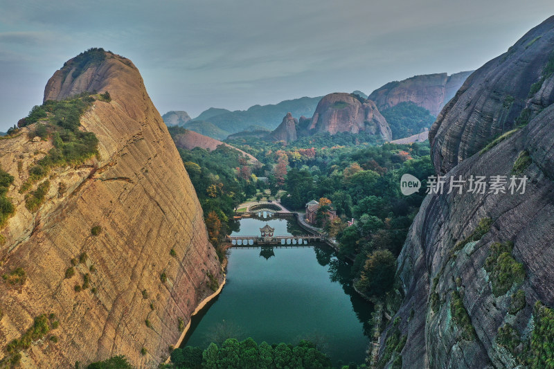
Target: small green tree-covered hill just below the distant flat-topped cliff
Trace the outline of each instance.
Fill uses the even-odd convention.
[[[380,111],[393,132],[393,140],[418,134],[429,129],[436,117],[429,110],[418,107],[413,102],[400,102],[394,107]]]

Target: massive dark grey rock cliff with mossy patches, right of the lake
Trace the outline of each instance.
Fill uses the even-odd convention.
[[[528,98],[533,78],[539,79],[551,55],[553,37],[551,17],[510,48],[506,60],[494,59],[476,71],[437,120],[434,128],[439,134],[432,141],[432,152],[437,172],[449,170],[447,183],[450,177],[469,179],[471,175],[507,176],[509,182],[522,152],[528,152],[530,161],[518,177],[526,175],[529,180],[523,195],[512,195],[509,190],[479,195],[468,193],[467,188],[462,194],[427,195],[398,258],[404,300],[393,320],[400,318],[398,328],[407,336],[401,353],[403,368],[515,368],[517,360],[497,341],[499,327],[509,323],[526,339],[533,329],[535,302],[554,305],[554,78],[546,78]],[[497,122],[508,93],[515,101],[504,112],[509,116],[502,118],[504,126],[512,126],[517,117],[511,109],[527,106],[542,111],[530,113],[528,125],[482,154],[456,151],[479,137],[474,132],[496,132],[503,127]],[[458,142],[451,138],[454,134]],[[472,151],[484,144],[478,139]],[[451,155],[451,150],[457,154]],[[456,249],[485,218],[491,219],[490,231]],[[494,277],[485,270],[485,260],[492,254],[493,242],[508,241],[514,243],[512,257],[523,265],[526,276],[521,285],[494,294]],[[510,310],[518,290],[524,291],[524,307]],[[467,339],[452,313],[455,293],[474,329],[472,339]],[[387,327],[382,343],[393,330],[392,325]]]

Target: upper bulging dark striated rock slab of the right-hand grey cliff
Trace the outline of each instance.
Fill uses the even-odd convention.
[[[530,87],[541,78],[554,47],[553,22],[530,30],[510,50],[470,78],[445,106],[429,132],[440,173],[481,150],[491,138],[514,128]],[[544,87],[544,98],[552,87]],[[540,97],[538,97],[540,99]]]

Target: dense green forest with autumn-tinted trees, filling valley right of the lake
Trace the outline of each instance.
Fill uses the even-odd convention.
[[[306,145],[298,141],[287,146],[259,140],[233,143],[263,163],[253,173],[268,178],[269,190],[287,208],[303,210],[312,199],[330,201],[339,219],[325,222],[323,216],[319,224],[337,238],[340,254],[355,260],[357,289],[383,296],[393,287],[396,257],[425,195],[424,190],[402,195],[400,177],[410,173],[424,180],[434,173],[429,144],[337,145],[345,136],[356,135],[322,136],[310,148],[301,148]],[[352,218],[355,224],[347,227]]]

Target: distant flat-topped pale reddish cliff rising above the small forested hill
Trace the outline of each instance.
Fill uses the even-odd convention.
[[[368,97],[377,107],[384,110],[411,101],[436,116],[440,109],[452,99],[472,71],[415,75],[402,81],[389,82],[373,91]]]

